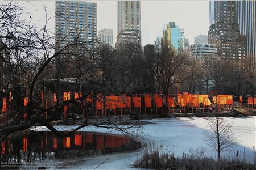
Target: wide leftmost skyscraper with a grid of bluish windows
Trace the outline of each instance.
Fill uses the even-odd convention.
[[[90,41],[97,34],[97,4],[85,1],[56,1],[56,50],[79,37]],[[93,48],[93,44],[88,44]]]

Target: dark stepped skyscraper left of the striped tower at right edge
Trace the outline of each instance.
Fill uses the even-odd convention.
[[[210,1],[208,37],[222,58],[241,60],[246,57],[246,36],[240,34],[237,24],[236,1]]]

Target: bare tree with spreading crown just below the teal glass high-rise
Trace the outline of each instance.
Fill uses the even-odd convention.
[[[168,103],[169,90],[175,84],[183,83],[191,77],[189,55],[185,52],[177,53],[174,48],[162,43],[155,43],[154,62],[142,61],[142,67],[150,71],[158,84],[158,91],[163,91],[165,103]],[[166,105],[167,108],[167,105]]]

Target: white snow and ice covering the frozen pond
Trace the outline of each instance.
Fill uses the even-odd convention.
[[[240,158],[245,155],[247,159],[253,159],[253,146],[255,144],[255,123],[256,117],[232,117],[225,118],[233,126],[233,131],[237,135],[238,142],[230,151],[225,151],[222,155],[234,155],[235,152],[241,151]],[[175,152],[176,155],[182,155],[183,152],[188,153],[189,150],[196,150],[204,147],[209,156],[216,156],[212,148],[204,143],[204,130],[207,129],[206,118],[166,118],[148,120],[156,124],[143,125],[144,134],[137,140],[139,142],[154,143],[155,146],[162,145],[163,148]],[[76,128],[76,126],[57,126],[59,130],[67,130]],[[46,130],[43,127],[36,128],[37,130]],[[34,129],[35,130],[35,129]],[[101,133],[121,134],[115,130],[107,130],[104,128],[86,127],[79,131],[97,131]],[[65,162],[58,162],[63,167],[59,169],[129,169],[132,168],[134,160],[142,154],[142,150],[109,154],[102,156],[93,156],[89,158],[76,158]],[[56,160],[55,160],[56,161]],[[52,163],[56,163],[52,161]],[[48,162],[48,167],[56,168],[56,165],[51,165]],[[67,166],[68,165],[68,166]]]

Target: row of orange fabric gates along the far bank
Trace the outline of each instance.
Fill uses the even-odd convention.
[[[74,93],[74,99],[79,99],[79,97],[82,97],[82,94],[75,92]],[[67,101],[71,99],[71,92],[63,92],[63,101]],[[115,95],[110,95],[110,96],[102,96],[101,94],[97,94],[96,96],[96,116],[98,116],[98,111],[102,111],[102,116],[106,116],[106,110],[114,110],[114,114],[116,115],[116,109],[120,109],[121,111],[121,116],[122,116],[122,110],[124,110],[124,113],[126,112],[126,108],[133,109],[135,112],[135,109],[139,109],[139,112],[141,113],[141,108],[142,108],[142,97],[135,95],[132,95],[131,97],[126,96],[125,94],[123,96],[115,96]],[[9,103],[11,103],[12,96],[11,92],[9,94]],[[2,104],[2,121],[6,122],[7,121],[7,99],[6,97],[3,97],[2,99],[3,104]],[[77,100],[79,101],[79,100]],[[242,96],[239,98],[240,103],[242,104]],[[91,103],[93,106],[93,97],[92,95],[89,95],[86,97],[86,100],[84,103],[81,104],[85,105],[85,103]],[[24,107],[26,107],[28,103],[28,97],[24,97]],[[45,106],[45,109],[47,110],[48,108],[48,100],[44,100],[44,94],[43,91],[41,92],[41,103],[42,105]],[[57,96],[55,93],[53,93],[53,103],[57,103]],[[144,111],[145,114],[147,114],[147,109],[150,109],[150,113],[152,114],[152,107],[155,108],[156,114],[158,114],[158,109],[161,109],[161,113],[163,113],[163,103],[164,100],[162,97],[160,97],[159,94],[154,95],[154,104],[152,105],[152,97],[150,97],[149,94],[144,95]],[[218,96],[213,96],[213,103],[214,104],[219,104],[219,105],[233,105],[233,95],[218,95]],[[204,107],[209,107],[212,105],[212,102],[209,100],[208,95],[192,95],[188,94],[187,92],[184,92],[183,94],[178,94],[177,95],[177,104],[175,104],[175,99],[174,97],[168,97],[168,109],[170,113],[170,108],[172,107],[173,113],[174,113],[174,107],[176,105],[180,106],[180,109],[184,108],[185,112],[185,107],[189,106],[192,109],[195,108],[197,112],[197,108],[200,106],[200,104],[203,104]],[[251,108],[254,108],[254,105],[256,104],[256,98],[253,97],[248,97],[248,108],[249,105],[251,105]],[[105,107],[104,107],[105,106]],[[85,109],[83,108],[83,114],[85,116]],[[67,110],[68,110],[68,105],[64,105],[64,118],[67,117]],[[105,112],[104,112],[105,111]],[[105,114],[104,114],[105,113]],[[47,118],[47,112],[46,112],[46,118]],[[24,120],[27,119],[27,114],[24,113]]]

